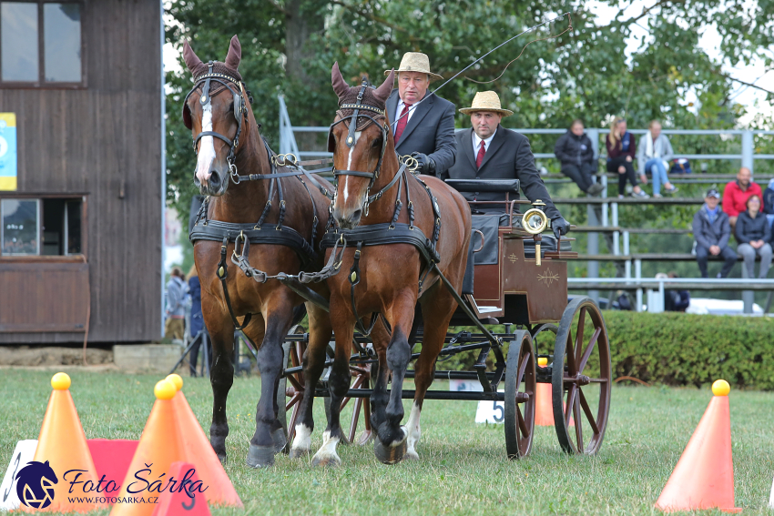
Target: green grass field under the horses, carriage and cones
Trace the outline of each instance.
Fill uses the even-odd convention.
[[[0,370],[4,471],[16,441],[37,438],[52,374]],[[88,438],[139,438],[158,377],[77,370],[70,375]],[[340,448],[343,466],[337,470],[312,469],[308,461],[286,456],[278,456],[270,470],[251,470],[244,460],[259,387],[260,379],[235,379],[229,397],[226,470],[246,511],[213,514],[660,514],[653,502],[711,397],[708,387],[614,387],[610,424],[596,457],[567,456],[552,428],[538,428],[532,455],[507,460],[503,428],[476,425],[475,402],[430,400],[423,410],[419,461],[384,466],[371,447],[348,447]],[[209,382],[186,379],[184,390],[209,429]],[[730,404],[737,506],[744,514],[769,514],[774,393],[731,390]],[[317,408],[315,446],[325,424],[322,404]],[[703,514],[715,512],[720,514]]]

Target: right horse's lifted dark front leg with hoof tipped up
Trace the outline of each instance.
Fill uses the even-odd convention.
[[[387,365],[392,371],[392,390],[387,403],[386,420],[376,429],[377,440],[373,452],[385,464],[402,460],[406,452],[407,431],[401,426],[403,419],[403,379],[412,358],[412,347],[408,335],[412,329],[416,294],[399,295],[387,310],[387,319],[392,325],[392,339],[387,347]]]

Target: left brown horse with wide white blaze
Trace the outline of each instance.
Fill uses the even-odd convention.
[[[202,194],[211,196],[191,234],[201,280],[202,314],[212,339],[210,442],[219,459],[226,460],[226,400],[234,375],[234,330],[236,318],[244,317],[243,331],[260,346],[261,377],[247,462],[251,467],[268,466],[287,442],[278,420],[276,392],[283,369],[282,341],[293,323],[294,309],[303,302],[277,279],[268,277],[321,268],[321,257],[309,251],[318,248],[330,201],[308,184],[309,177],[294,177],[294,168],[273,165],[276,157],[260,136],[246,102],[249,94],[239,76],[241,48],[236,35],[224,63],[202,63],[188,43],[183,55],[196,83],[183,113],[198,154],[194,182]],[[319,177],[315,180],[327,185]],[[229,182],[235,184],[229,187]],[[232,256],[237,238],[239,253]],[[238,260],[242,264],[247,263],[246,258],[250,268],[229,267],[227,256],[242,258]],[[324,285],[314,288],[327,297]],[[307,308],[315,323],[311,341],[319,348],[331,339],[328,314],[311,304]],[[296,319],[302,315],[299,311],[295,310]]]

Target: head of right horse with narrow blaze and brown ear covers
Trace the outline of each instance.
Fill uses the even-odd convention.
[[[331,82],[339,96],[339,110],[331,126],[328,150],[333,152],[334,175],[338,178],[333,199],[333,218],[342,229],[356,227],[363,212],[368,215],[368,195],[382,167],[382,159],[394,154],[392,131],[384,106],[392,92],[394,71],[378,88],[349,86],[333,65]],[[352,107],[362,106],[362,107]],[[357,110],[357,119],[354,112]]]

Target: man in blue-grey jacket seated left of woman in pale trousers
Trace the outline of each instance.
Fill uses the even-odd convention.
[[[723,268],[718,278],[727,278],[734,264],[737,263],[737,253],[728,247],[731,238],[731,227],[728,215],[718,207],[720,194],[715,188],[710,188],[704,197],[704,206],[693,216],[693,238],[696,239],[696,261],[702,278],[709,278],[707,261],[709,256],[722,257]]]

